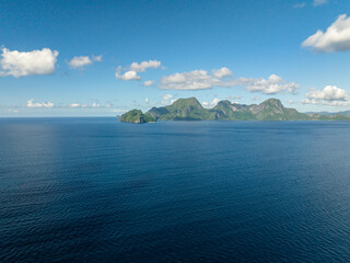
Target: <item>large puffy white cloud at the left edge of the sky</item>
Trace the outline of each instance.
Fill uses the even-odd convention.
[[[57,50],[43,48],[42,50],[18,52],[2,48],[0,57],[0,76],[20,78],[31,75],[51,75],[55,72]]]

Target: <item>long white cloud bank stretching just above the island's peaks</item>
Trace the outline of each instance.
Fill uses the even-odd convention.
[[[218,71],[213,70],[212,73],[218,73]],[[223,77],[228,76],[228,70],[220,69],[219,76]],[[300,85],[294,82],[287,83],[277,75],[271,75],[268,79],[238,78],[222,80],[213,75],[209,75],[206,70],[194,70],[165,76],[161,78],[160,83],[160,88],[163,90],[207,90],[213,87],[245,87],[245,89],[250,92],[260,92],[264,94],[293,93],[300,88]]]

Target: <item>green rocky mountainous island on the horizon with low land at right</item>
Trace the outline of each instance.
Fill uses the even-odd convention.
[[[153,123],[156,121],[350,121],[346,114],[300,113],[284,107],[280,100],[269,99],[260,104],[238,104],[220,101],[212,108],[205,108],[196,98],[178,99],[172,105],[152,107],[147,113],[132,110],[119,117],[119,122]]]

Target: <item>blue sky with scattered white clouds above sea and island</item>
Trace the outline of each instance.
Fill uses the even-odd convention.
[[[196,96],[350,110],[349,0],[0,1],[0,117]]]

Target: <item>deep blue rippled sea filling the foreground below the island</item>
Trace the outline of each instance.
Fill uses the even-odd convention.
[[[349,262],[350,123],[0,119],[0,262]]]

